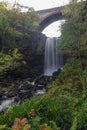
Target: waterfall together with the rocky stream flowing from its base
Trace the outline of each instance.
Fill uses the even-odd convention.
[[[5,111],[10,105],[21,103],[34,95],[42,95],[47,91],[47,84],[60,73],[63,66],[62,51],[58,50],[57,38],[47,38],[45,44],[44,74],[33,81],[25,79],[17,85],[13,84],[11,91],[0,93],[0,112]]]

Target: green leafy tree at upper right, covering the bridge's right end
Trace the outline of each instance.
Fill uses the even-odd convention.
[[[77,0],[74,0],[65,10],[66,22],[62,26],[60,37],[61,47],[64,50],[75,52],[87,49],[87,22],[85,18],[87,13],[84,13],[87,12],[87,8],[84,8],[84,3],[82,1],[78,4]]]

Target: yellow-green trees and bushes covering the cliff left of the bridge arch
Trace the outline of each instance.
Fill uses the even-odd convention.
[[[27,12],[22,8],[0,2],[0,79],[9,77],[11,81],[12,77],[21,77],[23,71],[27,71],[34,50],[31,50],[33,41],[40,35],[38,15],[32,8]]]

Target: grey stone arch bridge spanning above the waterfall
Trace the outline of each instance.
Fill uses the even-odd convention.
[[[64,19],[64,6],[37,11],[39,15],[39,28],[42,31],[52,22]]]

